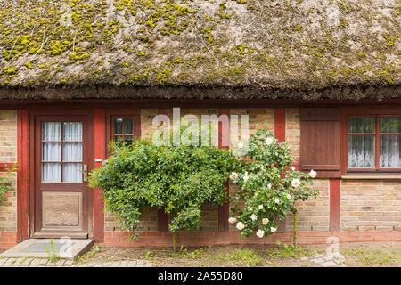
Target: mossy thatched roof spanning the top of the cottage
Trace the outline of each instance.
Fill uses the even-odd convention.
[[[0,98],[398,98],[400,15],[394,0],[3,0]]]

